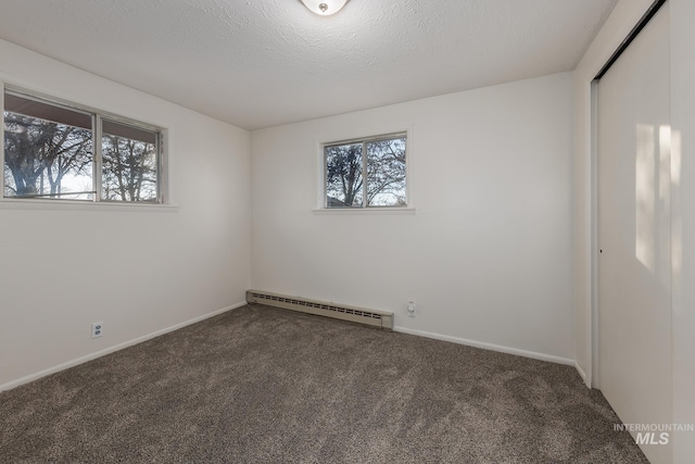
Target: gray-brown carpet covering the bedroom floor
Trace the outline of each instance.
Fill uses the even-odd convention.
[[[573,367],[244,306],[0,393],[2,463],[646,463]]]

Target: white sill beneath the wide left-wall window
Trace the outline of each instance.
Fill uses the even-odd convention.
[[[153,203],[116,203],[108,201],[70,201],[0,199],[0,210],[50,210],[50,211],[123,211],[123,212],[162,212],[176,213],[178,206]]]

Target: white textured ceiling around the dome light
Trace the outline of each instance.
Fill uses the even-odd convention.
[[[572,70],[617,0],[1,0],[0,38],[245,129]]]

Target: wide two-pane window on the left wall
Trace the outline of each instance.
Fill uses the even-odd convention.
[[[161,203],[162,130],[4,90],[3,197]]]

